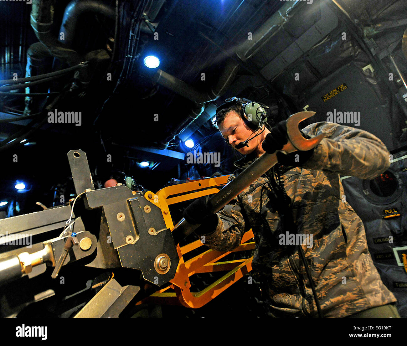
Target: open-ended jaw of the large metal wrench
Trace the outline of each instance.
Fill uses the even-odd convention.
[[[287,136],[293,145],[298,150],[306,151],[316,147],[322,138],[325,138],[325,134],[319,134],[313,138],[304,138],[298,128],[298,125],[305,119],[311,118],[315,112],[303,111],[291,115],[287,119]]]

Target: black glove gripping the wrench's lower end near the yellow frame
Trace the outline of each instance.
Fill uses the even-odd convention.
[[[209,200],[209,196],[203,196],[193,201],[182,212],[182,216],[186,221],[193,225],[197,223],[201,225],[194,231],[198,235],[212,233],[218,225],[218,216],[210,212]]]

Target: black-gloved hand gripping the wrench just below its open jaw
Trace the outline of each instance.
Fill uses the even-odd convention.
[[[309,138],[309,136],[306,136]],[[263,140],[262,147],[266,153],[272,154],[276,153],[278,162],[284,164],[284,166],[301,166],[306,162],[314,153],[314,149],[307,151],[294,151],[293,153],[284,154],[281,151],[282,147],[288,143],[287,137],[287,124],[286,122],[280,121],[275,127],[273,127],[266,138]],[[298,155],[298,156],[297,156]]]

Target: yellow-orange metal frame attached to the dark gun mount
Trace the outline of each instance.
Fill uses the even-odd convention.
[[[166,227],[172,229],[174,223],[168,208],[169,205],[217,193],[219,191],[219,188],[217,187],[226,184],[228,177],[229,175],[223,175],[221,177],[194,180],[185,184],[167,186],[157,193],[147,191],[144,194],[144,197],[161,209]],[[149,196],[152,197],[150,198]],[[200,240],[197,240],[183,247],[177,245],[179,264],[174,278],[170,280],[171,285],[153,293],[151,296],[144,299],[143,302],[153,301],[161,304],[182,304],[185,307],[190,308],[202,307],[252,270],[252,257],[234,261],[218,262],[232,252],[254,249],[254,241],[246,243],[252,238],[253,232],[252,230],[249,230],[249,232],[246,232],[243,235],[241,245],[234,250],[229,252],[206,250],[186,262],[184,262],[182,256],[204,244]],[[228,272],[220,279],[212,282],[212,284],[206,287],[203,291],[190,291],[191,283],[189,278],[192,275],[220,271]],[[170,288],[174,289],[175,292],[166,292]]]

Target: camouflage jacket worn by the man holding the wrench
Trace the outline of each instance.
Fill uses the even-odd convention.
[[[324,317],[342,318],[396,302],[374,267],[363,223],[346,202],[339,179],[339,174],[361,179],[380,175],[390,166],[387,148],[367,131],[335,123],[313,123],[302,132],[324,133],[327,138],[301,167],[287,167],[282,177],[291,198],[289,217],[296,228],[290,233],[304,240],[302,248]],[[242,171],[253,160],[249,154],[235,165]],[[252,228],[256,242],[252,267],[267,284],[271,313],[318,317],[298,250],[284,245],[292,236],[286,234],[276,211],[273,187],[268,184],[274,179],[271,171],[218,212],[217,229],[206,235],[206,244],[218,251],[232,250]],[[312,241],[306,243],[305,238]]]

